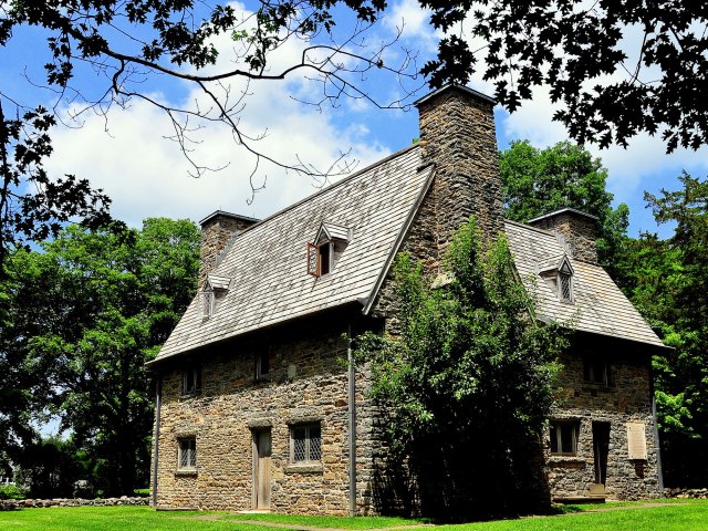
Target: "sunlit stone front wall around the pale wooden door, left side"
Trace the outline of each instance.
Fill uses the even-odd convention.
[[[272,437],[271,510],[348,513],[348,419],[345,320],[300,323],[249,344],[230,343],[201,361],[201,392],[181,395],[181,369],[164,374],[159,429],[158,509],[253,509],[253,431]],[[260,345],[260,346],[258,346]],[[254,378],[256,353],[271,372]],[[194,361],[194,360],[192,360]],[[357,507],[371,492],[371,405],[366,372],[356,375]],[[290,460],[292,424],[320,423],[322,459]],[[178,439],[195,437],[197,470],[177,469]]]

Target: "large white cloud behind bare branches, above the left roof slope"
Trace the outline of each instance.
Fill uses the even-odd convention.
[[[229,65],[229,54],[223,51],[232,44],[228,37],[220,38],[222,53],[217,69]],[[273,71],[299,60],[302,46],[299,41],[287,43],[274,58]],[[232,81],[231,94],[239,95],[246,87],[246,83]],[[388,154],[386,147],[367,142],[364,124],[337,126],[330,111],[319,111],[290,97],[312,95],[308,94],[310,90],[306,80],[296,75],[287,81],[251,83],[238,125],[248,135],[263,138],[249,140],[250,145],[278,162],[296,166],[302,160],[319,170],[327,170],[342,152],[350,149],[346,160],[358,160],[360,168]],[[159,95],[154,97],[160,100]],[[177,103],[198,104],[202,110],[209,105],[199,90]],[[231,132],[219,124],[206,124],[191,135],[199,144],[191,146],[194,152],[189,155],[209,167],[228,166],[195,179],[187,175],[189,164],[178,145],[164,138],[174,135],[174,129],[165,113],[155,106],[135,100],[127,110],[113,108],[107,117],[110,134],[103,131],[102,116],[84,118],[83,127],[53,134],[55,155],[48,168],[88,178],[113,199],[113,215],[133,226],[150,216],[198,220],[216,209],[262,218],[316,191],[317,180],[312,177],[261,159],[253,183],[259,186],[267,179],[266,188],[256,195],[252,205],[247,205],[256,157],[238,146]]]

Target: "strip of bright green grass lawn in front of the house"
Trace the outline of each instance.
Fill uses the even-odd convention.
[[[247,520],[257,520],[263,524],[249,523]],[[69,507],[0,512],[0,530],[18,531],[279,531],[282,528],[268,525],[279,523],[303,528],[364,530],[416,525],[421,522],[373,517],[287,517],[210,511],[156,512],[146,507]],[[708,501],[676,500],[662,507],[647,507],[641,503],[582,506],[579,508],[579,512],[563,516],[435,527],[435,531],[591,530],[708,531]]]

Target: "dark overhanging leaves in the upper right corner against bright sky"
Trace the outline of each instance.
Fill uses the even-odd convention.
[[[667,150],[708,140],[708,10],[701,2],[420,0],[446,35],[423,72],[465,83],[479,64],[509,111],[546,87],[579,144],[626,146],[660,134]],[[471,39],[481,41],[478,49]],[[475,42],[477,44],[477,42]],[[634,46],[634,49],[632,49]],[[627,52],[625,49],[629,48]]]

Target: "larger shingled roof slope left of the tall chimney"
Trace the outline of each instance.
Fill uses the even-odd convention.
[[[430,183],[433,168],[419,165],[410,146],[238,235],[212,271],[231,279],[218,311],[202,319],[197,295],[155,361],[367,298]],[[323,223],[346,228],[348,243],[332,272],[314,278],[306,248]]]

